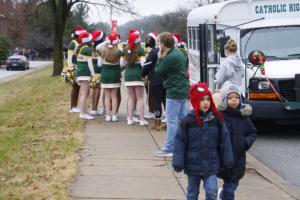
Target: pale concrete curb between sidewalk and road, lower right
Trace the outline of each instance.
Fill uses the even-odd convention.
[[[250,153],[247,153],[247,164],[254,168],[258,175],[278,187],[280,190],[284,191],[292,198],[300,200],[300,192],[295,186],[285,181],[269,167],[254,158]]]

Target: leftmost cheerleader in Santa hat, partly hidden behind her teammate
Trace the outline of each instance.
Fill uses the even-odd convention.
[[[67,65],[69,70],[76,70],[76,65],[77,65],[77,56],[76,56],[76,51],[79,46],[78,44],[78,36],[81,33],[86,32],[86,30],[80,26],[76,27],[75,32],[72,34],[72,41],[69,43],[68,46],[68,56],[67,56]],[[72,89],[71,89],[71,109],[70,113],[79,113],[80,109],[77,108],[78,105],[78,96],[79,96],[79,90],[80,87],[75,81],[72,83]]]

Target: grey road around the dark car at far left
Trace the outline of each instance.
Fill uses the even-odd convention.
[[[30,61],[29,62],[29,71],[34,70],[35,68],[42,67],[47,64],[51,64],[52,61]],[[6,66],[2,65],[0,67],[0,80],[8,77],[12,77],[16,74],[25,73],[28,70],[14,70],[14,71],[7,71]]]

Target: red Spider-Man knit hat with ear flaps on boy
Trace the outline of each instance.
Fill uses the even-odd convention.
[[[219,113],[219,111],[216,108],[216,105],[215,105],[215,103],[212,99],[212,95],[209,91],[209,88],[208,88],[207,84],[204,83],[204,82],[201,82],[201,83],[194,84],[190,87],[190,101],[191,101],[191,104],[193,106],[198,125],[201,126],[201,124],[202,124],[201,118],[199,116],[199,106],[200,106],[199,104],[200,104],[200,101],[202,100],[202,98],[205,95],[209,96],[210,110],[213,113],[215,113],[215,115],[217,115],[217,117],[219,119],[224,121],[224,117],[221,115],[221,113]]]

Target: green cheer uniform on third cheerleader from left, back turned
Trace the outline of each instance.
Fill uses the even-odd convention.
[[[121,57],[121,51],[119,51]],[[119,62],[110,63],[105,59],[102,64],[101,73],[102,88],[119,88],[121,87],[121,68]]]

